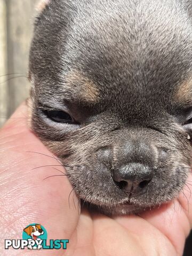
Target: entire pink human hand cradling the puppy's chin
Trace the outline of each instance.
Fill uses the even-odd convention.
[[[27,115],[23,103],[0,131],[0,255],[37,255],[4,249],[4,239],[22,239],[30,223],[43,225],[48,239],[69,239],[67,250],[38,255],[182,255],[192,223],[191,170],[178,198],[139,216],[81,211],[65,169],[28,129]]]

